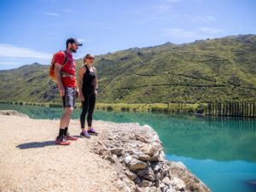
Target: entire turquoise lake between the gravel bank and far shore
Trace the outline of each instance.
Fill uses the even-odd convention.
[[[61,108],[0,104],[33,119],[59,119]],[[80,109],[73,113],[79,119]],[[150,125],[168,160],[182,161],[213,192],[256,191],[256,119],[96,111],[94,119]]]

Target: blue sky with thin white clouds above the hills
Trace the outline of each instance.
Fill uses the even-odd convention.
[[[84,43],[75,58],[166,42],[256,34],[253,0],[1,0],[0,70]]]

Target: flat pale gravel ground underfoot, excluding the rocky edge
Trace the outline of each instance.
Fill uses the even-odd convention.
[[[108,160],[91,152],[97,137],[55,145],[59,120],[0,114],[0,192],[119,191]],[[95,121],[101,133],[104,124]],[[71,120],[79,136],[79,120]]]

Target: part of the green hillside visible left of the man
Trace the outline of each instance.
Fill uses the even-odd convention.
[[[20,68],[0,71],[0,100],[22,102],[49,102],[57,88],[49,79],[49,66],[34,63]]]

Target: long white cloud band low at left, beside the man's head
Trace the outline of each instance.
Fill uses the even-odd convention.
[[[17,47],[12,44],[0,44],[0,57],[49,59],[51,56],[48,53],[38,52],[29,48]]]

